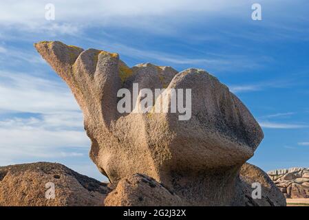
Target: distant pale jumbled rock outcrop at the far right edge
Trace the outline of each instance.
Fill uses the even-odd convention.
[[[309,168],[279,169],[267,174],[287,199],[309,198]]]

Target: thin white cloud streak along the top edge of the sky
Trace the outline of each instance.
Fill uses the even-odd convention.
[[[228,0],[89,0],[85,1],[3,1],[1,3],[0,21],[2,23],[27,23],[45,20],[45,4],[53,3],[56,19],[83,21],[83,19],[96,19],[104,22],[107,18],[118,17],[149,17],[172,16],[181,12],[218,12],[244,5],[241,2],[231,3]],[[91,17],[89,17],[91,15]]]

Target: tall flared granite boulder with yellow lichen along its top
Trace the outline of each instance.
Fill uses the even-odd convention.
[[[240,191],[246,188],[246,180],[239,171],[253,156],[263,133],[244,104],[217,78],[201,69],[178,73],[149,63],[129,68],[118,54],[57,41],[35,47],[72,90],[92,140],[89,155],[112,184],[120,184],[116,190],[135,187],[142,181],[136,176],[140,173],[177,195],[170,198],[177,204],[179,199],[184,205],[197,206],[242,203],[239,187]],[[117,92],[125,88],[133,93],[134,83],[138,91],[151,89],[153,94],[165,88],[153,102],[154,107],[169,110],[172,89],[191,89],[191,118],[179,120],[182,114],[171,111],[120,113]],[[142,105],[142,98],[138,93],[131,103],[134,109]],[[123,179],[131,179],[133,185]],[[276,194],[276,188],[271,188]],[[167,191],[162,193],[169,197]],[[285,205],[280,193],[277,197],[272,203]]]

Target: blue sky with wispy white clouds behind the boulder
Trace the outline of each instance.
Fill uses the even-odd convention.
[[[55,20],[45,19],[54,3]],[[262,5],[262,21],[251,5]],[[206,69],[264,130],[250,162],[309,167],[309,1],[6,1],[0,3],[0,166],[61,162],[104,179],[70,90],[36,53],[37,41]]]

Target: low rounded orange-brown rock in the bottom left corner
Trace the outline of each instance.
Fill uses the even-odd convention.
[[[47,199],[54,183],[55,197]],[[107,184],[56,163],[0,167],[0,206],[103,206]]]

